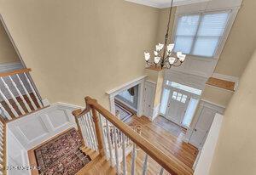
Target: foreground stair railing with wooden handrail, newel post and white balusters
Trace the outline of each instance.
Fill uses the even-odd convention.
[[[86,109],[73,111],[78,124],[79,133],[83,136],[83,144],[100,155],[106,156],[115,167],[117,174],[136,174],[137,148],[145,153],[142,174],[148,172],[148,158],[152,158],[160,165],[159,174],[169,172],[172,175],[192,175],[193,170],[179,161],[174,155],[166,155],[147,139],[143,138],[137,129],[131,128],[118,117],[113,116],[108,110],[98,104],[96,99],[85,98]],[[131,170],[127,170],[127,148],[131,143]],[[129,154],[130,152],[128,152]],[[121,157],[121,161],[119,158]],[[122,166],[121,166],[122,163]],[[156,165],[154,165],[156,166]]]

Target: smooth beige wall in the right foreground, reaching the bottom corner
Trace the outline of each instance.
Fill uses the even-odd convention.
[[[256,174],[255,76],[256,52],[225,112],[211,175]]]

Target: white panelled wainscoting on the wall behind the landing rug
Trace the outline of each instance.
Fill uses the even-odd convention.
[[[31,150],[69,127],[76,127],[72,111],[78,108],[70,104],[53,104],[7,126],[25,150]]]

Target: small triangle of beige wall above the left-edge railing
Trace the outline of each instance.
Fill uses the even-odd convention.
[[[0,64],[20,61],[0,21]]]

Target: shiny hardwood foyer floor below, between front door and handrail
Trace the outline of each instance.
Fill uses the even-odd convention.
[[[188,167],[193,167],[198,150],[191,144],[183,142],[182,138],[172,135],[163,128],[160,122],[149,121],[147,117],[132,116],[127,124],[141,125],[142,136],[166,155],[175,155],[178,160],[183,161]]]

